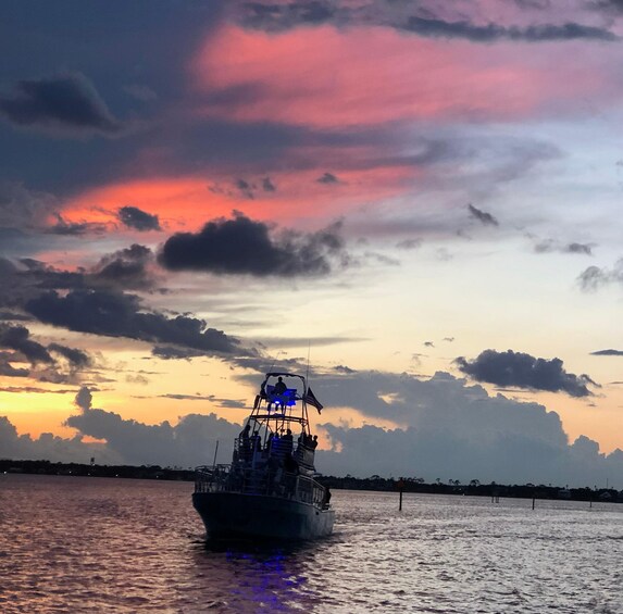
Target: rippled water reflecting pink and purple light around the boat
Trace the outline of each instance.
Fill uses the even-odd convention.
[[[191,491],[0,475],[0,612],[623,613],[623,505],[336,490],[334,536],[258,547]]]

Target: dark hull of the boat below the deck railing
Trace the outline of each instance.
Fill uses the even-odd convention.
[[[335,512],[301,501],[240,492],[195,492],[209,537],[315,539],[333,531]]]

